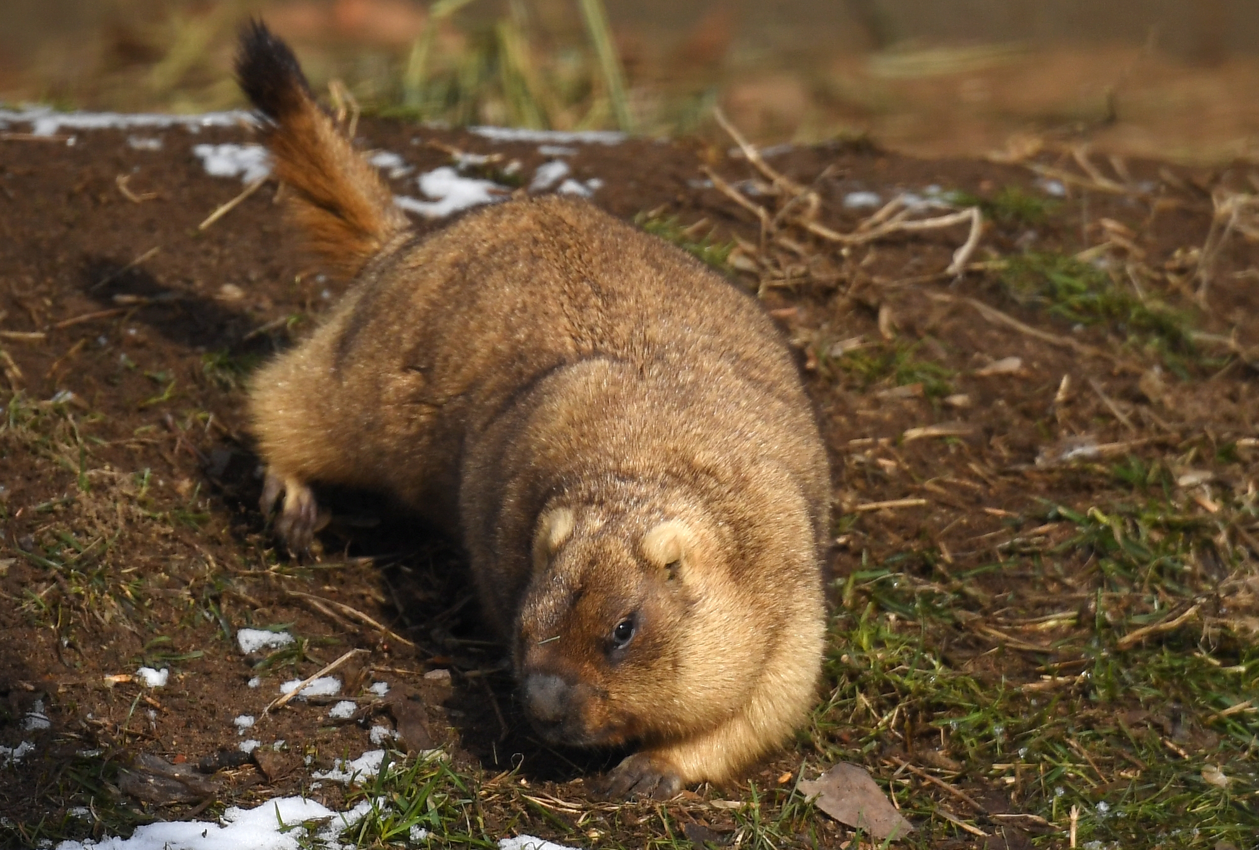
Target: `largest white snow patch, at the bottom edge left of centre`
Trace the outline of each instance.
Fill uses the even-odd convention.
[[[340,846],[340,832],[358,824],[374,802],[364,800],[346,812],[335,812],[313,800],[279,797],[254,808],[232,806],[220,822],[159,821],[136,829],[130,839],[62,841],[57,850],[298,850],[302,846]],[[310,835],[302,826],[326,821]]]

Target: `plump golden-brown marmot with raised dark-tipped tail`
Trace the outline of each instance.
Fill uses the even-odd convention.
[[[759,305],[580,200],[419,237],[261,23],[237,73],[296,218],[351,278],[252,382],[290,548],[312,482],[457,534],[539,733],[638,747],[609,796],[721,782],[779,745],[816,696],[830,475]]]

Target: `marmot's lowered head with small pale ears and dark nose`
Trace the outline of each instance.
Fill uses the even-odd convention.
[[[514,637],[539,733],[582,747],[663,740],[738,710],[765,642],[733,550],[694,510],[544,511]]]

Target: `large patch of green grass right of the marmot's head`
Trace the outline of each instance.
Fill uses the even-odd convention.
[[[842,586],[826,662],[832,690],[815,713],[812,744],[822,763],[871,764],[912,737],[915,748],[954,761],[959,772],[940,776],[972,795],[1010,795],[1011,811],[1059,829],[1078,807],[1084,847],[1249,846],[1259,834],[1259,714],[1234,706],[1259,694],[1259,646],[1245,611],[1228,613],[1244,608],[1241,597],[1211,599],[1251,574],[1220,531],[1253,525],[1256,509],[1222,499],[1219,514],[1190,514],[1167,495],[1160,462],[1085,467],[1080,475],[1126,485],[1132,497],[1081,510],[1047,505],[1010,521],[1011,536],[1059,524],[1056,541],[1016,539],[964,568],[930,549],[862,560]],[[1027,607],[1025,589],[1061,602]],[[1199,617],[1124,640],[1194,603]],[[1044,604],[1056,618],[1031,616]],[[1002,631],[1045,650],[1011,647]],[[946,835],[973,840],[910,778],[890,790],[933,824],[920,846]],[[942,800],[978,829],[1000,827]]]

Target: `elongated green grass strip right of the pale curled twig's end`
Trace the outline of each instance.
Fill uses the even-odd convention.
[[[1187,315],[1152,293],[1138,296],[1131,283],[1119,285],[1090,263],[1055,253],[1019,254],[1008,259],[1000,280],[1019,303],[1071,324],[1104,327],[1132,345],[1152,349],[1168,365],[1196,355]]]

